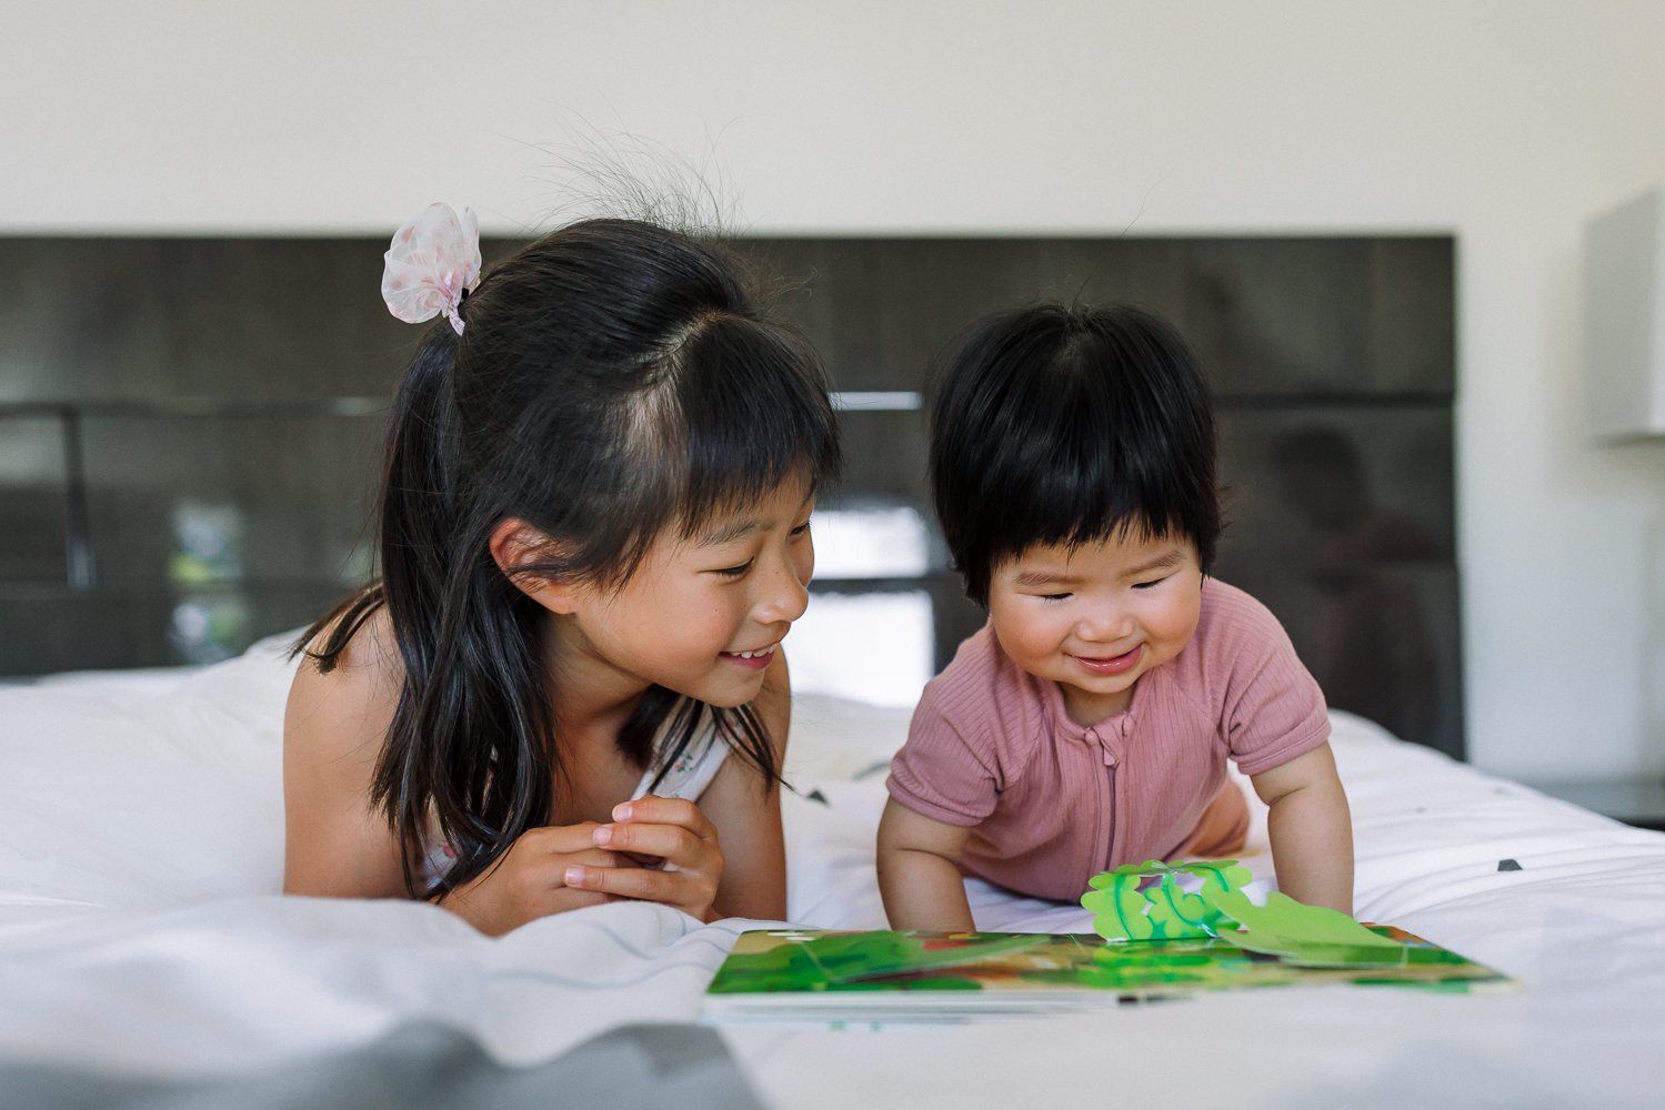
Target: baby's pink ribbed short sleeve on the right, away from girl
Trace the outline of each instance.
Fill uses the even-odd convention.
[[[1320,747],[1330,719],[1284,626],[1249,594],[1230,592],[1215,636],[1229,661],[1220,726],[1237,769],[1255,776]]]

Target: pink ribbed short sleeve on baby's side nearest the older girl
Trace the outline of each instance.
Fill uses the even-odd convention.
[[[1001,792],[999,759],[989,714],[956,712],[941,687],[927,686],[907,727],[907,742],[891,759],[886,789],[899,804],[947,825],[977,825],[994,812]],[[981,722],[976,722],[977,717]],[[976,724],[966,727],[959,719]]]

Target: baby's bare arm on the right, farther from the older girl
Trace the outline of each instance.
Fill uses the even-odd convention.
[[[1250,782],[1270,807],[1267,832],[1279,890],[1352,914],[1352,814],[1330,746],[1250,776]]]

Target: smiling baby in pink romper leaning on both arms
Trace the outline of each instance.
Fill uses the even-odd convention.
[[[1270,805],[1280,889],[1352,912],[1352,830],[1317,684],[1270,612],[1207,576],[1214,414],[1132,308],[992,316],[931,413],[932,499],[989,624],[931,681],[889,777],[896,929],[972,929],[962,874],[1076,900],[1126,862],[1224,855]]]

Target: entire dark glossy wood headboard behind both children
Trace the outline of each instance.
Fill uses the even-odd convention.
[[[513,248],[486,245],[488,260]],[[1289,627],[1330,702],[1464,752],[1449,236],[753,238],[844,401],[846,506],[926,514],[917,398],[974,316],[1121,300],[1214,381],[1217,572]],[[370,571],[381,413],[415,330],[385,241],[0,240],[0,676],[162,666],[306,622]],[[936,664],[982,621],[941,544]]]

